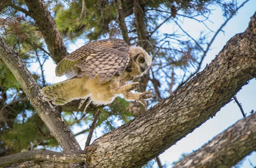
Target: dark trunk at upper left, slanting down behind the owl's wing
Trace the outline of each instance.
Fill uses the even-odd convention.
[[[25,0],[29,13],[41,30],[53,61],[58,63],[68,54],[56,23],[45,6],[44,0]]]

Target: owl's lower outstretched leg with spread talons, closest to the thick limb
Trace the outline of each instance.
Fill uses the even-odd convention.
[[[133,100],[133,101],[139,101],[143,105],[147,105],[145,99],[152,98],[153,95],[150,94],[150,90],[147,90],[143,93],[122,93],[122,95],[125,97],[126,100]]]

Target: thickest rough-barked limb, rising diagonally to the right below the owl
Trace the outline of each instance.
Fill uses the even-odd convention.
[[[96,139],[89,168],[137,168],[214,116],[256,77],[256,13],[202,72],[169,98]]]

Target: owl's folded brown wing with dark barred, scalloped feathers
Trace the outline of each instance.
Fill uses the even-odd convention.
[[[99,75],[99,81],[109,81],[117,72],[121,74],[125,70],[129,52],[128,44],[121,39],[94,41],[63,58],[55,73],[57,76],[84,73],[91,80]]]

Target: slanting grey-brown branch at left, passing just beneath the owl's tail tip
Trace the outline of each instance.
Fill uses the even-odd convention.
[[[0,37],[0,59],[9,67],[15,78],[22,87],[29,101],[32,103],[38,115],[47,125],[52,135],[57,139],[64,151],[81,150],[78,142],[73,137],[70,128],[61,118],[61,114],[52,107],[49,102],[44,101],[40,87],[27,70],[21,58]]]

